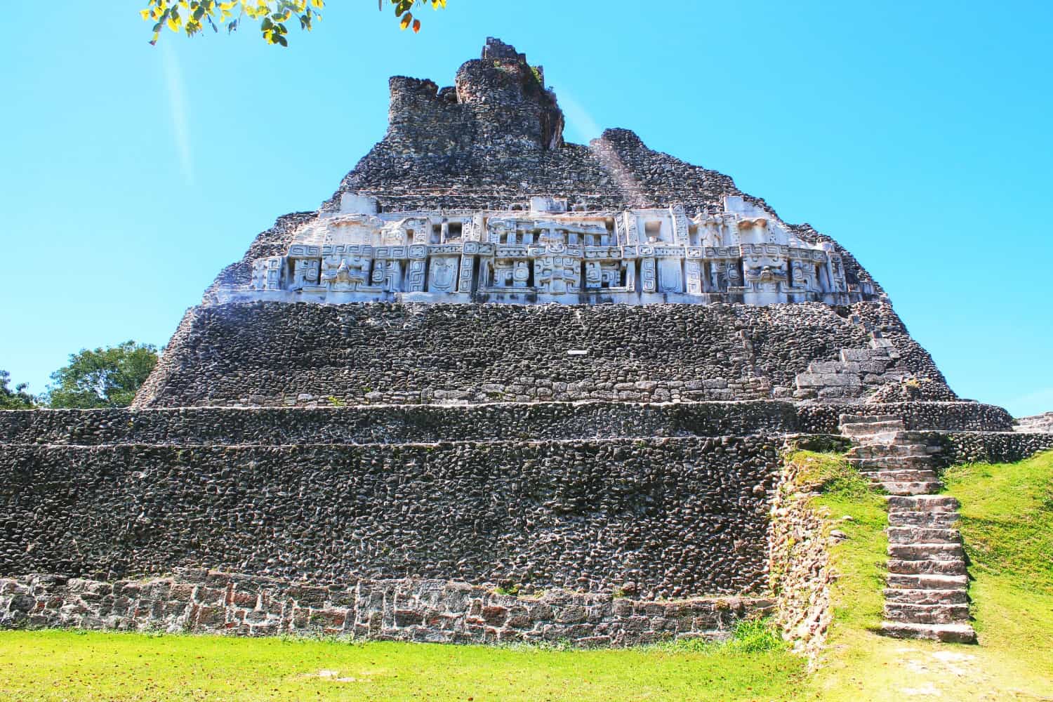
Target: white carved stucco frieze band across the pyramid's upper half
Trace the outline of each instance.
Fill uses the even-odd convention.
[[[848,283],[832,244],[800,240],[741,197],[693,218],[680,204],[569,212],[560,198],[514,210],[345,204],[297,232],[285,256],[255,261],[250,285],[221,299],[845,304],[874,296],[870,281]]]

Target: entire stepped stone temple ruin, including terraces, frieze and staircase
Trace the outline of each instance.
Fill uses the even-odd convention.
[[[630,645],[829,621],[790,445],[890,498],[885,628],[969,641],[957,398],[840,244],[488,40],[186,313],[131,409],[0,413],[0,626]],[[793,545],[796,544],[796,545]]]

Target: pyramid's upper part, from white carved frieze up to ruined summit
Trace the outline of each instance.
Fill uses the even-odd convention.
[[[625,131],[589,147],[565,143],[543,69],[498,40],[454,87],[393,78],[391,92],[384,140],[318,213],[250,252],[215,301],[880,297],[833,241],[784,224],[726,176],[651,152]]]

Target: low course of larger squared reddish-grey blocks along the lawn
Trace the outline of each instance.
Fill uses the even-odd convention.
[[[568,591],[514,597],[436,580],[321,586],[198,569],[145,581],[0,578],[0,628],[628,646],[724,638],[739,619],[771,608],[771,600],[759,598],[642,602]]]

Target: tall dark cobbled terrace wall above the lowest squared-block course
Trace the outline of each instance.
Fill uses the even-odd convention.
[[[764,587],[764,437],[0,452],[0,575]]]

